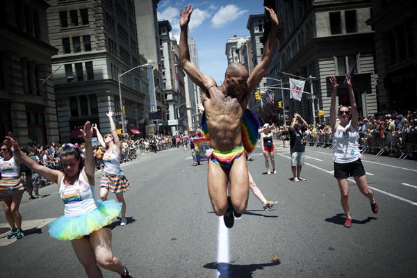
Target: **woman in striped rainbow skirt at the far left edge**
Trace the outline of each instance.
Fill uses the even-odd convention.
[[[10,233],[7,238],[22,239],[22,215],[19,213],[20,202],[22,202],[24,186],[20,177],[20,159],[15,156],[15,150],[8,145],[1,145],[0,148],[0,195],[1,206],[3,206],[6,220],[10,226]]]

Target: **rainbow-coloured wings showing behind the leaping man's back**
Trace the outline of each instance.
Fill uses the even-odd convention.
[[[245,109],[243,113],[243,119],[241,124],[242,141],[245,151],[250,154],[256,147],[256,141],[258,140],[258,129],[261,127],[261,123],[258,120],[256,114],[249,109]],[[210,140],[210,134],[207,129],[206,112],[202,115],[202,131],[204,138]]]

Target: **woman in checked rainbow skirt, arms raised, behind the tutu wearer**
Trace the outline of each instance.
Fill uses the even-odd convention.
[[[130,189],[131,184],[124,177],[123,171],[120,169],[120,152],[122,143],[117,135],[116,126],[113,122],[113,111],[106,114],[111,126],[111,132],[104,137],[101,136],[97,124],[93,124],[93,128],[97,133],[97,139],[101,147],[106,149],[103,155],[104,169],[100,179],[100,197],[103,201],[107,200],[108,192],[115,193],[117,202],[122,203],[122,219],[120,225],[127,224],[126,219],[126,201],[123,193]]]

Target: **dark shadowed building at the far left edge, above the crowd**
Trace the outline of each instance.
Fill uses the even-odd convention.
[[[0,138],[13,132],[22,144],[59,141],[46,1],[0,4]]]

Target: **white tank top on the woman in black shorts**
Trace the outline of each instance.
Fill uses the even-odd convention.
[[[361,157],[357,145],[358,133],[351,123],[350,121],[347,126],[342,126],[339,123],[333,133],[333,161],[336,163],[350,163]]]

